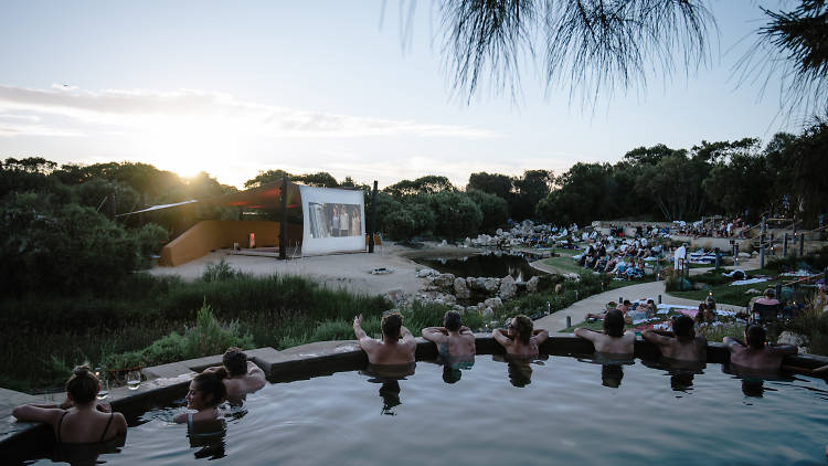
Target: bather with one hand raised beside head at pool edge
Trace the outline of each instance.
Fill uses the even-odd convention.
[[[391,313],[382,318],[382,340],[375,340],[362,330],[361,314],[353,318],[353,332],[371,364],[391,366],[414,362],[417,342],[411,330],[403,327],[403,316],[400,313]],[[402,341],[400,341],[401,338]]]

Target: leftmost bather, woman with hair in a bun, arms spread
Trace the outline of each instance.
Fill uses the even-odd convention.
[[[98,378],[88,367],[78,366],[66,381],[66,401],[60,406],[25,404],[15,407],[12,415],[19,421],[49,424],[59,444],[104,443],[126,434],[127,421],[96,400],[98,391]]]

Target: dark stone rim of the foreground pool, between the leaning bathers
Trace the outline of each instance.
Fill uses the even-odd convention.
[[[495,341],[490,333],[476,333],[478,354],[502,353],[503,349]],[[593,354],[592,342],[577,338],[572,333],[550,337],[541,351],[554,356]],[[331,374],[340,371],[352,371],[363,368],[368,358],[359,347],[357,340],[320,341],[277,351],[273,348],[258,348],[245,351],[248,358],[267,374],[270,382],[288,382],[309,379],[318,375]],[[636,358],[655,359],[659,352],[655,345],[644,341],[640,337],[636,341]],[[437,347],[431,341],[417,338],[417,360],[431,360],[437,357]],[[708,362],[728,362],[730,353],[723,343],[708,343]],[[152,409],[169,405],[176,399],[187,393],[190,381],[197,373],[211,366],[220,366],[222,354],[187,361],[172,362],[144,369],[147,378],[138,390],[126,386],[109,391],[107,401],[115,411],[123,412],[127,420],[136,420],[141,413]],[[799,354],[785,360],[790,367],[802,369],[802,373],[828,364],[828,358],[813,354]],[[0,457],[4,460],[22,459],[26,452],[49,446],[54,442],[50,428],[40,423],[15,422],[11,416],[14,406],[25,403],[46,403],[63,401],[64,394],[54,395],[53,400],[44,396],[33,396],[25,393],[0,389],[0,417],[6,422],[0,424]]]

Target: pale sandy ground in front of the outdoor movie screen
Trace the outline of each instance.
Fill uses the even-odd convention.
[[[477,252],[479,251],[474,248],[440,246],[437,243],[414,250],[388,242],[376,246],[373,254],[349,253],[279,261],[276,257],[236,255],[229,250],[221,250],[176,267],[155,267],[150,274],[179,275],[185,280],[192,280],[201,276],[209,263],[217,263],[224,258],[233,268],[252,275],[299,275],[328,288],[344,288],[359,294],[384,295],[394,290],[414,294],[425,286],[425,279],[417,278],[414,274],[426,267],[410,257],[450,257]],[[380,267],[392,272],[385,275],[370,273]]]

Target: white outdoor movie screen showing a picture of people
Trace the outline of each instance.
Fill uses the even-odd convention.
[[[362,191],[299,186],[304,218],[302,255],[365,250]]]

